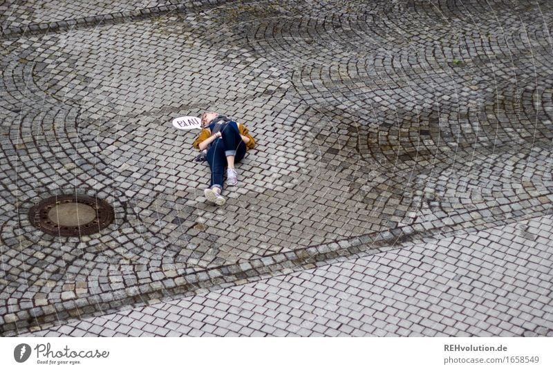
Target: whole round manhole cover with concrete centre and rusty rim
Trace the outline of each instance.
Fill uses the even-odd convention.
[[[29,210],[30,223],[53,236],[95,234],[113,218],[113,208],[107,202],[79,195],[46,198]]]

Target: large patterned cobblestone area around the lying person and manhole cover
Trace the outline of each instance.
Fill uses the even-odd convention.
[[[552,211],[549,1],[53,3],[1,8],[4,335]],[[205,110],[259,142],[221,209]],[[115,222],[32,227],[62,193]]]

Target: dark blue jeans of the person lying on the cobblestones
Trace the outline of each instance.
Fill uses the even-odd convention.
[[[207,162],[212,170],[209,188],[218,187],[223,191],[223,173],[227,167],[227,156],[234,155],[234,163],[240,162],[246,154],[246,145],[238,131],[238,124],[234,121],[223,126],[221,135],[223,137],[214,140],[209,147]]]

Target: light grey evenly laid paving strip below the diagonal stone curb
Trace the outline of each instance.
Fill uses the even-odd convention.
[[[32,335],[553,336],[552,233],[532,218]]]

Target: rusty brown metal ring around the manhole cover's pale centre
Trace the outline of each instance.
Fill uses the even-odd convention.
[[[48,218],[48,213],[54,207],[64,203],[78,203],[91,207],[95,211],[95,218],[87,223],[75,226],[57,225]],[[115,219],[111,205],[101,198],[72,194],[51,196],[41,200],[29,209],[30,224],[46,234],[52,236],[80,237],[99,233]]]

